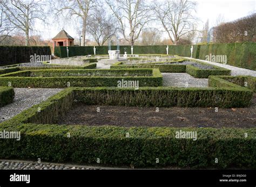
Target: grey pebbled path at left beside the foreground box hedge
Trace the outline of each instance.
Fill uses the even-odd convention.
[[[9,105],[0,107],[0,123],[16,116],[23,110],[29,109],[35,104],[43,102],[62,89],[15,88],[14,90],[14,102]]]

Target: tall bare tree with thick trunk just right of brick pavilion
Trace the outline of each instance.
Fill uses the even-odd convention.
[[[85,46],[87,21],[91,11],[95,8],[96,3],[97,1],[92,0],[63,0],[59,1],[56,7],[55,2],[53,2],[53,5],[56,7],[55,15],[57,17],[60,15],[65,18],[71,16],[82,20],[82,46]]]

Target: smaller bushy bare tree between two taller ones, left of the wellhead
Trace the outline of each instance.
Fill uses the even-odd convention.
[[[107,16],[103,8],[97,8],[88,19],[88,31],[97,42],[98,46],[113,37],[118,31],[116,20],[112,16]]]

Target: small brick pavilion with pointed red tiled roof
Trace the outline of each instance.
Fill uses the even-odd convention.
[[[56,46],[73,46],[74,39],[64,30],[61,30],[53,40],[53,52]]]

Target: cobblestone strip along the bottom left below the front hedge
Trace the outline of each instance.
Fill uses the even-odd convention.
[[[8,162],[2,161],[0,163],[0,170],[12,169],[12,170],[99,170],[102,168],[95,167],[83,167],[83,166],[72,166],[67,164],[56,164],[56,163],[26,163],[26,162]]]

